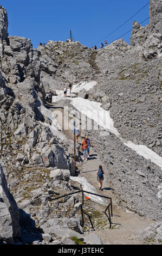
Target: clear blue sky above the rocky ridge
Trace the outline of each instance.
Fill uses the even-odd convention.
[[[105,39],[108,43],[118,39],[132,29],[132,22],[139,23],[149,17],[149,0],[1,0],[8,13],[9,35],[30,38],[33,47],[40,41],[65,41],[70,30],[75,41],[92,47],[100,47]],[[124,26],[113,32],[139,9],[144,7]],[[149,24],[149,19],[142,26]],[[122,36],[129,44],[131,32]],[[104,40],[103,40],[104,38]]]

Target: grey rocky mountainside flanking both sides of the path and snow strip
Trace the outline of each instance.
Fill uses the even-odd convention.
[[[73,95],[86,98],[87,107],[89,101],[101,103],[122,139],[146,145],[159,156],[160,17],[161,0],[152,0],[150,25],[133,22],[130,45],[120,39],[98,50],[95,62],[101,74],[96,86]],[[69,218],[82,202],[81,195],[52,200],[76,192],[80,184],[70,179],[75,175],[73,142],[55,129],[57,122],[53,123],[51,113],[56,106],[44,100],[49,90],[62,90],[69,82],[85,80],[92,71],[89,53],[92,50],[88,47],[69,40],[49,40],[47,45],[33,49],[30,39],[8,35],[7,11],[0,7],[0,243],[75,244],[75,236],[90,243],[81,215]],[[65,103],[74,113],[77,106],[68,99]],[[161,168],[103,127],[82,130],[82,137],[87,133],[105,162],[116,203],[158,221],[146,233],[150,235],[153,230],[161,242]],[[79,144],[76,154],[77,163],[81,163]],[[97,223],[101,217],[95,204],[85,207],[95,217],[95,229],[100,230]],[[146,233],[139,236],[147,237]],[[102,244],[98,236],[91,240]]]

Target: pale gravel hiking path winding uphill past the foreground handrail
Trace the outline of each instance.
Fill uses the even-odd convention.
[[[53,104],[53,107],[59,107],[62,109],[63,113],[63,106],[67,103],[67,99],[62,100],[61,102],[57,102]],[[57,118],[60,121],[60,118]],[[73,132],[72,130],[64,131],[65,135],[68,139],[73,139]],[[79,143],[81,143],[81,138],[79,138]],[[113,203],[113,217],[112,217],[112,229],[100,230],[100,231],[90,231],[90,233],[94,233],[98,235],[104,244],[113,244],[113,245],[139,245],[143,244],[144,242],[137,240],[134,238],[135,233],[138,231],[145,229],[153,223],[152,220],[148,220],[147,218],[140,217],[138,214],[134,214],[131,211],[126,209],[120,208],[120,206],[116,203],[118,200],[115,197],[115,187],[110,180],[110,175],[108,174],[108,170],[105,167],[104,162],[100,160],[98,153],[95,151],[94,145],[90,148],[90,158],[88,161],[77,162],[77,168],[80,170],[79,176],[85,177],[90,184],[92,184],[96,191],[99,194],[102,194],[107,197],[112,198]],[[98,169],[99,165],[102,165],[103,169],[105,170],[105,179],[103,180],[103,190],[99,191],[98,181],[96,180],[96,170]],[[94,205],[94,204],[93,204]],[[101,214],[104,215],[103,211],[105,211],[106,206],[95,204],[96,210],[101,211]],[[105,216],[105,218],[107,218]]]

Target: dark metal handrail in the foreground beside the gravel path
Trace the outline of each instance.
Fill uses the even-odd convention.
[[[63,198],[63,197],[67,197],[67,196],[70,196],[70,195],[72,195],[72,194],[76,194],[76,193],[80,193],[80,192],[82,192],[82,204],[80,204],[81,206],[79,205],[79,206],[77,207],[77,209],[74,211],[74,213],[73,213],[72,216],[74,216],[74,215],[76,214],[76,212],[77,212],[80,208],[82,208],[82,205],[84,204],[84,196],[83,196],[84,192],[85,192],[85,193],[88,193],[88,194],[93,194],[94,196],[107,198],[107,199],[110,199],[111,202],[110,202],[110,203],[108,204],[108,206],[106,207],[104,213],[105,213],[105,215],[107,216],[106,211],[107,211],[107,209],[108,209],[108,216],[107,216],[107,217],[108,217],[108,221],[109,221],[110,228],[111,228],[111,224],[112,224],[111,216],[113,216],[112,198],[111,198],[111,197],[101,196],[100,194],[95,194],[95,193],[92,193],[92,192],[89,192],[89,191],[85,191],[85,190],[79,190],[79,191],[72,192],[72,193],[69,193],[69,194],[64,194],[63,196],[60,196],[60,197],[51,198],[51,199],[48,198],[48,200],[49,200],[49,201],[53,201],[53,200],[60,199],[60,198]],[[111,214],[110,214],[110,211],[109,211],[109,206],[111,206]],[[82,209],[81,209],[81,212],[82,212],[82,221],[83,221],[83,224],[84,224],[83,213],[86,214],[86,212],[84,212]],[[88,214],[86,214],[86,215],[89,217],[90,224],[91,224],[92,227],[93,227],[93,223],[92,223],[92,221],[90,220],[90,216],[89,216]],[[72,216],[71,216],[70,218],[72,218]]]

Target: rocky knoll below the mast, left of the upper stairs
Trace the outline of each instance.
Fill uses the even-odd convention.
[[[41,60],[41,81],[47,92],[81,82],[92,71],[88,63],[89,48],[78,41],[49,40],[36,51]]]

